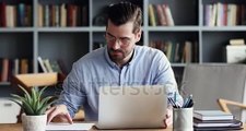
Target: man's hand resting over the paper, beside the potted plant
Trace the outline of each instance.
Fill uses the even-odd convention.
[[[58,117],[61,121],[72,123],[72,118],[70,117],[66,105],[54,106],[46,111],[46,115],[47,123],[49,123],[55,117]]]

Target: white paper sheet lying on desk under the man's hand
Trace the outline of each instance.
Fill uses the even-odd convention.
[[[46,127],[46,131],[62,131],[62,130],[90,130],[95,123],[60,123],[51,122]]]

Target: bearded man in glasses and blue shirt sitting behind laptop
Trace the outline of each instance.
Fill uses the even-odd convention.
[[[56,116],[72,123],[72,117],[83,105],[85,120],[97,120],[98,88],[105,85],[172,85],[177,92],[171,63],[165,55],[145,46],[137,46],[141,38],[141,9],[129,2],[108,8],[105,39],[107,46],[85,55],[78,60],[63,82],[63,91],[48,114],[48,122]],[[167,110],[166,126],[172,123],[172,111]]]

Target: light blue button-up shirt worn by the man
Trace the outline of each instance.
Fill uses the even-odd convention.
[[[96,121],[101,86],[156,84],[171,85],[166,86],[169,96],[176,92],[176,99],[183,103],[171,63],[162,51],[147,46],[136,46],[131,60],[120,68],[110,60],[107,47],[104,47],[73,63],[57,104],[67,105],[72,117],[78,108],[83,106],[85,120]]]

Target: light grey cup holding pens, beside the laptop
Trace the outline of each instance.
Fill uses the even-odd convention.
[[[194,108],[173,108],[173,130],[194,130]]]

